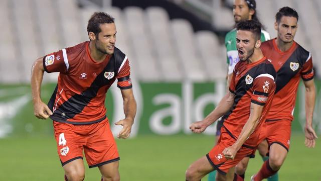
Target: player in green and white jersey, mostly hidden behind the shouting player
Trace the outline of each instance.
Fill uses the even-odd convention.
[[[233,16],[235,24],[239,23],[240,21],[244,20],[256,20],[259,22],[256,13],[256,2],[255,0],[234,0],[233,1]],[[262,30],[261,31],[261,41],[264,42],[270,39],[269,33]],[[227,87],[229,87],[230,80],[233,75],[233,69],[236,63],[240,60],[238,57],[238,52],[236,49],[236,29],[234,28],[225,36],[225,47],[227,51]],[[223,126],[224,116],[221,120],[217,123],[217,131],[216,131],[216,141],[219,139],[221,135],[221,127]],[[267,153],[267,142],[264,140],[259,146],[258,150],[260,155],[262,156],[263,160],[265,161],[268,159],[266,156]],[[247,167],[248,159],[250,157],[254,157],[254,155],[249,155],[248,157],[244,158],[238,165],[236,166],[236,173],[241,175],[241,177],[245,176],[245,169]],[[216,171],[213,171],[209,174],[208,180],[213,181],[216,177]],[[278,175],[275,174],[272,177],[268,178],[269,181],[278,180]]]

